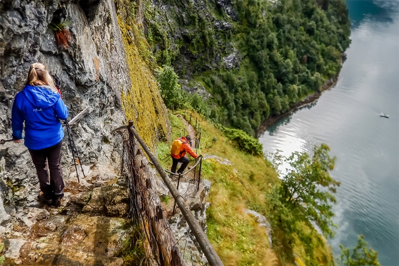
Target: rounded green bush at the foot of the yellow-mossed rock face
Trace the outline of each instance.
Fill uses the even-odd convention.
[[[158,89],[167,108],[180,107],[184,104],[179,76],[171,66],[164,65],[155,71]]]

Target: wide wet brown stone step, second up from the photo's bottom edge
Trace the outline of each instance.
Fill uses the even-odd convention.
[[[115,256],[129,242],[130,221],[122,218],[89,216],[50,216],[34,224],[22,237],[31,242],[62,245],[67,249],[95,254]],[[19,237],[20,238],[20,237]]]

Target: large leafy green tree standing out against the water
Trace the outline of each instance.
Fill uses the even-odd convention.
[[[340,182],[330,176],[334,169],[335,157],[328,154],[326,144],[315,146],[313,156],[306,152],[294,152],[285,159],[290,169],[283,177],[279,188],[279,200],[292,213],[296,220],[310,227],[314,222],[326,236],[333,236],[334,213],[331,203],[333,194]]]

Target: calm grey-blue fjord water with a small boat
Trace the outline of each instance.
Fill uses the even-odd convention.
[[[347,0],[352,43],[337,85],[259,136],[264,151],[311,152],[327,143],[341,182],[329,240],[354,247],[357,236],[383,266],[399,265],[399,1]],[[389,119],[380,117],[384,112]]]

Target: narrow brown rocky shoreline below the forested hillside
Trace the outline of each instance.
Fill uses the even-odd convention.
[[[282,114],[279,114],[279,115],[270,116],[267,119],[263,120],[255,132],[255,138],[258,138],[259,135],[264,133],[268,127],[270,127],[274,123],[278,122],[279,120],[289,116],[294,111],[315,102],[317,99],[320,98],[320,96],[323,94],[324,91],[330,90],[332,87],[334,87],[337,84],[337,81],[338,81],[338,75],[335,76],[334,78],[327,80],[323,84],[322,89],[320,91],[314,92],[313,94],[308,95],[302,101],[295,103],[288,111],[286,111]]]

